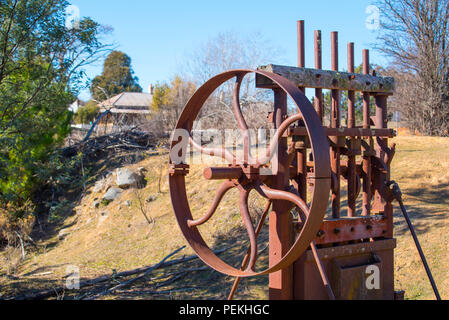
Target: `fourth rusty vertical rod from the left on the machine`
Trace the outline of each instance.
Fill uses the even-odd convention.
[[[354,73],[354,43],[348,44],[348,72]],[[355,121],[355,91],[348,91],[348,128],[353,129]],[[350,148],[355,144],[355,139],[350,140]],[[348,157],[348,217],[354,217],[356,213],[356,162],[355,155]]]

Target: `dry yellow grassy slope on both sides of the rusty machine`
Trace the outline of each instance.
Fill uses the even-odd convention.
[[[398,153],[393,163],[393,179],[401,185],[405,204],[418,230],[440,291],[443,297],[449,298],[449,139],[398,137],[394,142],[398,145]],[[93,192],[91,188],[76,204],[74,214],[67,217],[64,225],[50,238],[39,243],[41,249],[27,255],[26,261],[13,276],[6,276],[6,265],[11,263],[11,258],[2,254],[4,266],[0,269],[0,292],[3,296],[62,284],[69,265],[78,266],[82,278],[95,278],[155,264],[185,245],[172,213],[166,178],[161,180],[159,190],[161,168],[162,176],[165,177],[166,163],[167,156],[155,156],[130,165],[132,169],[148,169],[146,187],[127,190],[120,199],[108,206],[93,206],[102,194]],[[193,212],[199,217],[208,209],[217,182],[205,182],[200,167],[193,166],[191,171],[188,178],[189,199]],[[152,201],[147,202],[149,198]],[[245,250],[239,248],[247,245],[237,199],[235,193],[229,193],[213,220],[201,228],[204,237],[214,248],[232,248],[223,257],[235,265],[245,253]],[[259,216],[264,206],[262,199],[253,196],[251,204],[252,214]],[[396,214],[396,289],[405,290],[408,299],[431,299],[431,287],[419,256],[399,211]],[[62,240],[58,237],[61,229],[68,233]],[[264,239],[260,244],[263,249],[266,233],[261,237]],[[186,248],[176,257],[191,254],[191,249]],[[261,259],[262,264],[267,263],[266,255]],[[175,299],[225,298],[233,279],[211,270],[197,270],[203,266],[199,261],[178,266],[191,272],[178,281],[176,287],[167,285],[163,288],[189,289],[173,293],[171,296]],[[164,272],[179,270],[172,268]],[[154,276],[158,275],[161,274]],[[145,293],[148,288],[152,288],[152,283],[152,280],[148,280],[105,298],[171,297]],[[266,277],[244,280],[238,298],[265,299],[266,286]]]

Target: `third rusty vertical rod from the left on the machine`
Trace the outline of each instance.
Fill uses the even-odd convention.
[[[338,71],[338,32],[332,32],[332,70]],[[331,109],[331,127],[340,128],[341,113],[340,113],[340,91],[332,90],[332,109]],[[331,147],[331,167],[335,175],[332,179],[332,217],[334,219],[340,218],[341,209],[341,190],[340,190],[340,155],[341,150],[338,146]]]

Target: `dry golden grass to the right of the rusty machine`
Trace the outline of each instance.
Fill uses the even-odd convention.
[[[392,178],[417,229],[440,293],[449,299],[449,139],[398,137]],[[407,299],[433,299],[433,291],[413,240],[395,206],[396,288]]]

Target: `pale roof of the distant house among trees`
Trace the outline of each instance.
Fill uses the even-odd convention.
[[[153,95],[141,92],[123,92],[100,103],[100,109],[109,109],[112,113],[150,113],[149,107]]]

